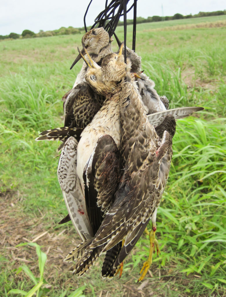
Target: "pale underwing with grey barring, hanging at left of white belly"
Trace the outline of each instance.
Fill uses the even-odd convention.
[[[77,145],[78,142],[74,137],[66,140],[59,159],[57,175],[73,225],[84,241],[93,236],[93,231],[90,227],[85,198],[76,173]]]

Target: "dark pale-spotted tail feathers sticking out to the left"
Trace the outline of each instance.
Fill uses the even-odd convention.
[[[59,127],[41,132],[36,140],[61,140],[66,141],[70,136],[80,137],[82,128]]]

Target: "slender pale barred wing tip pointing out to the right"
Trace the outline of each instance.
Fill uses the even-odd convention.
[[[153,126],[158,126],[159,124],[161,124],[161,122],[163,121],[163,119],[165,118],[165,116],[171,114],[172,116],[174,116],[175,120],[178,119],[183,119],[186,118],[187,116],[190,116],[192,113],[203,110],[203,107],[180,107],[180,108],[173,108],[173,109],[168,109],[168,110],[164,110],[164,111],[160,111],[160,112],[156,112],[156,113],[152,113],[147,115],[147,118],[149,120],[149,122],[153,125]]]

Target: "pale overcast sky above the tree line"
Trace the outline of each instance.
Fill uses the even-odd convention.
[[[11,32],[21,34],[28,29],[38,33],[39,30],[55,30],[60,27],[83,27],[83,17],[90,0],[1,0],[0,35]],[[108,1],[110,3],[110,0]],[[132,1],[130,0],[132,3]],[[130,4],[129,2],[129,4]],[[196,14],[225,10],[225,0],[138,0],[137,16]],[[94,18],[104,9],[105,0],[93,0],[86,18],[87,26],[94,23]],[[132,12],[128,19],[133,18]]]

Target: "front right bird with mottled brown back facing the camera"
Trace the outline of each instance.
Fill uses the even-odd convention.
[[[102,65],[108,73],[113,74],[111,77],[120,81],[122,78],[117,78],[113,70],[119,68],[118,72],[120,73],[120,69],[123,72],[125,64],[120,63],[120,56],[114,59],[115,56],[112,55],[106,56]],[[155,242],[157,207],[165,188],[172,157],[171,135],[164,131],[162,139],[159,139],[155,128],[145,115],[133,83],[123,80],[117,89],[118,96],[120,96],[120,155],[125,170],[114,203],[106,213],[95,237],[79,245],[65,259],[66,261],[79,259],[72,267],[74,273],[78,275],[85,273],[93,265],[93,260],[102,252],[112,249],[125,238],[125,243],[113,263],[113,268],[117,268],[138,241],[150,218],[153,233],[150,236],[150,250],[153,249],[152,244]],[[173,126],[175,130],[175,121]]]

